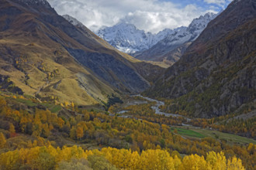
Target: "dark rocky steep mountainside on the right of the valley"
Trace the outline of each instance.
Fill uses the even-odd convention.
[[[147,95],[172,99],[167,110],[197,117],[254,110],[255,32],[256,2],[235,0]]]

